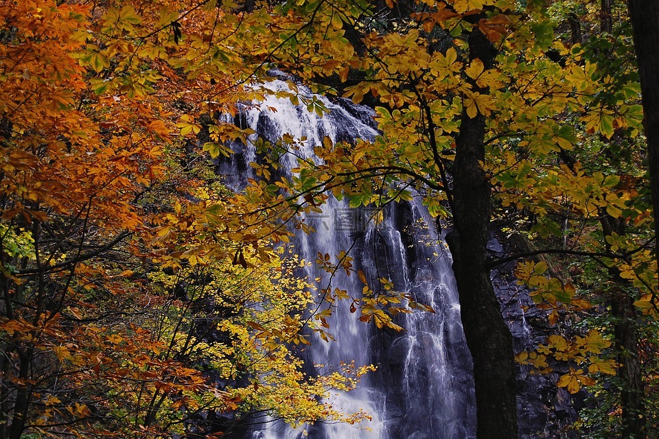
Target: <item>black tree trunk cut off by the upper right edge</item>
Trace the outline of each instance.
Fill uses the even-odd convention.
[[[655,245],[659,243],[659,2],[629,0],[629,18],[643,95],[645,137],[649,157]],[[657,258],[659,261],[659,257]],[[659,265],[658,265],[659,272]]]

